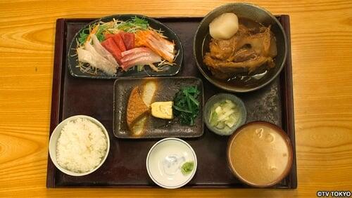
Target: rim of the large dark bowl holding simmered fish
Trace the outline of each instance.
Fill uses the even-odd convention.
[[[253,88],[247,88],[247,89],[239,89],[239,88],[227,88],[225,86],[221,86],[220,84],[218,84],[216,81],[214,81],[213,79],[211,79],[208,74],[206,74],[206,72],[203,71],[203,68],[201,67],[201,65],[199,64],[198,60],[196,59],[196,36],[199,32],[199,29],[201,27],[201,25],[203,24],[204,20],[206,20],[206,18],[208,18],[209,15],[211,15],[215,10],[224,8],[226,6],[233,6],[233,5],[246,5],[246,6],[252,6],[253,8],[257,8],[260,9],[262,11],[264,11],[265,13],[267,13],[270,18],[272,18],[277,25],[279,25],[279,29],[281,29],[282,31],[282,35],[284,37],[284,59],[282,60],[282,64],[279,67],[279,70],[277,70],[277,72],[265,83],[260,84],[259,86],[253,87]],[[193,58],[196,61],[196,65],[198,67],[199,72],[201,72],[201,74],[203,75],[203,77],[205,77],[208,81],[210,81],[211,84],[217,86],[218,88],[221,88],[225,91],[230,91],[232,93],[246,93],[246,92],[250,92],[250,91],[256,91],[259,88],[263,88],[264,86],[270,84],[270,82],[272,82],[278,75],[279,73],[282,71],[282,68],[284,68],[284,65],[286,64],[286,59],[287,59],[287,37],[286,37],[286,33],[284,31],[284,28],[282,27],[281,23],[279,22],[279,20],[277,20],[277,18],[275,18],[274,15],[272,15],[272,13],[270,13],[269,11],[267,11],[265,8],[262,8],[260,6],[256,6],[254,4],[248,4],[248,3],[229,3],[229,4],[224,4],[222,6],[219,6],[215,9],[213,9],[213,11],[210,11],[207,15],[204,16],[203,20],[201,20],[201,22],[199,23],[197,29],[196,29],[196,34],[194,34],[194,38],[193,38]]]

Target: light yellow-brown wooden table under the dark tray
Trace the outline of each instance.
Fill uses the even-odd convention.
[[[297,190],[46,189],[56,18],[203,16],[228,1],[0,2],[0,197],[315,197],[352,190],[351,1],[253,1],[291,17]]]

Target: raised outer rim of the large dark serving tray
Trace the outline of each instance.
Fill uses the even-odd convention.
[[[282,120],[283,126],[282,128],[286,131],[291,139],[291,143],[294,145],[294,163],[292,164],[291,171],[289,173],[289,179],[287,186],[273,186],[270,187],[272,189],[296,189],[297,188],[297,170],[296,170],[296,143],[295,143],[295,130],[294,130],[294,100],[293,100],[293,82],[292,82],[292,65],[291,65],[291,35],[290,35],[290,20],[289,15],[275,15],[279,17],[279,21],[282,23],[285,33],[287,34],[288,38],[288,56],[286,60],[286,67],[282,70],[282,73],[279,75],[280,81],[283,82],[282,88],[282,97],[285,103],[282,103],[284,107],[284,113]],[[175,21],[189,21],[189,20],[201,20],[201,16],[196,17],[187,17],[187,16],[154,16],[151,18],[157,18],[160,20],[175,20]],[[67,30],[66,23],[67,22],[84,22],[89,20],[96,20],[96,18],[58,18],[56,20],[56,34],[55,34],[55,46],[54,46],[54,69],[53,69],[53,81],[52,81],[52,93],[51,93],[51,115],[50,115],[50,126],[49,126],[49,136],[54,130],[54,128],[58,125],[59,120],[62,119],[61,117],[61,93],[63,90],[61,89],[61,85],[63,84],[63,55],[65,55],[65,48],[62,48],[65,45],[65,34]],[[288,30],[288,31],[287,31]],[[283,74],[284,73],[284,74]],[[287,90],[288,89],[288,90]],[[284,93],[284,94],[283,94]],[[49,142],[49,140],[48,140]],[[117,185],[110,185],[110,186],[82,186],[82,185],[71,185],[71,186],[57,186],[56,185],[56,176],[57,170],[54,166],[53,162],[49,157],[48,152],[48,163],[47,163],[47,172],[46,172],[46,187],[48,188],[71,188],[71,187],[125,187],[125,188],[151,188],[156,187],[153,185],[128,185],[128,184],[117,184]],[[251,188],[246,185],[241,186],[233,186],[228,184],[213,184],[213,185],[191,185],[186,186],[187,188]]]

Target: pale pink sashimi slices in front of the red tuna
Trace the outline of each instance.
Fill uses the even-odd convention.
[[[128,70],[134,65],[149,65],[154,62],[161,62],[161,56],[149,48],[133,48],[122,53],[122,69]]]

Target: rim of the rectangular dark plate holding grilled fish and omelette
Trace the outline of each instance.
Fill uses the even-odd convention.
[[[143,80],[145,79],[145,77],[121,77],[118,79],[115,79],[114,83],[113,83],[113,135],[115,136],[115,138],[120,138],[120,139],[130,139],[130,140],[150,140],[150,139],[160,139],[160,138],[199,138],[201,136],[203,136],[204,134],[204,122],[203,122],[203,114],[201,116],[201,133],[196,134],[196,135],[192,135],[192,136],[142,136],[142,137],[134,137],[134,136],[118,136],[118,132],[115,133],[115,130],[117,130],[117,128],[115,128],[115,87],[116,87],[116,82],[117,81],[122,81],[122,80],[135,80],[135,79],[139,79],[139,80]],[[201,98],[202,98],[202,103],[201,106],[202,108],[204,108],[204,86],[203,86],[203,81],[201,79],[199,79],[198,77],[148,77],[148,79],[194,79],[195,81],[200,81],[200,86],[201,86]],[[203,113],[202,110],[200,110],[200,113]]]

